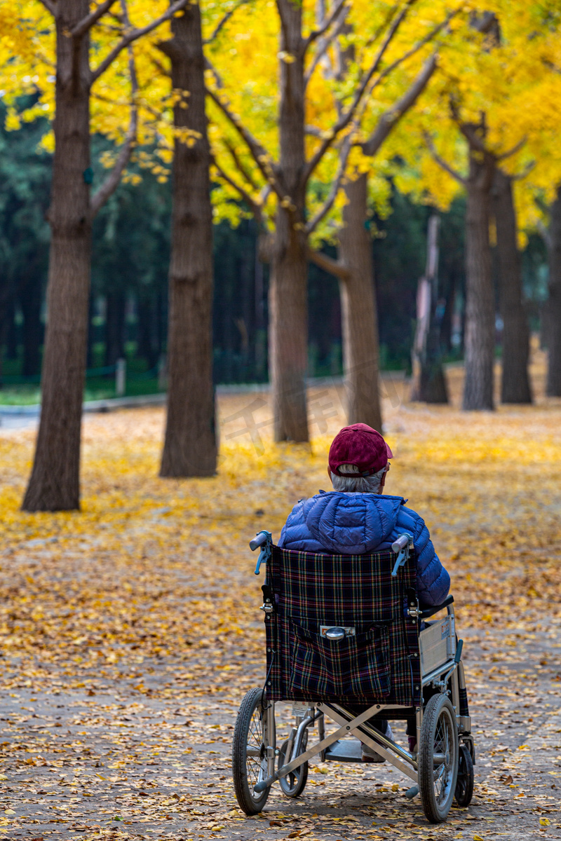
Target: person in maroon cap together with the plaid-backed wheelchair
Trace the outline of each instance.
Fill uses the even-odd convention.
[[[474,790],[474,740],[450,577],[424,521],[384,495],[392,458],[366,424],[346,426],[329,452],[333,490],[299,500],[278,546],[260,549],[267,676],[246,693],[236,720],[232,776],[246,814],[261,812],[274,782],[304,791],[308,760],[389,761],[414,785],[429,821],[446,820]],[[424,620],[441,611],[430,624]],[[275,705],[292,702],[295,725],[277,747]],[[325,716],[335,722],[326,735]],[[408,749],[389,720],[407,722]],[[308,746],[317,726],[319,741]],[[354,738],[348,738],[354,737]]]

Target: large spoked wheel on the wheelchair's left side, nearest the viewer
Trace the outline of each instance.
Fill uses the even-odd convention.
[[[241,701],[232,743],[234,791],[246,815],[262,812],[269,796],[269,789],[255,792],[257,783],[267,777],[267,715],[263,690],[249,690]]]

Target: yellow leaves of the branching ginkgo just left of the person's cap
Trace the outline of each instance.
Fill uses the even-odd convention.
[[[391,8],[385,0],[354,0],[348,5],[344,33],[332,41],[325,51],[325,56],[320,60],[315,59],[315,50],[320,46],[320,41],[308,50],[305,68],[309,78],[304,108],[305,122],[309,126],[305,136],[305,151],[309,160],[323,140],[334,136],[337,119],[351,105],[358,80],[371,66],[373,56],[380,48],[380,33],[387,29]],[[306,198],[309,219],[321,209],[331,192],[340,164],[340,148],[344,137],[349,135],[353,143],[368,138],[380,116],[405,93],[426,57],[434,49],[438,39],[436,42],[419,45],[437,24],[442,23],[451,8],[453,4],[447,3],[446,0],[420,0],[411,8],[389,45],[384,63],[373,76],[368,88],[369,94],[358,109],[357,120],[349,124],[331,146],[310,179]],[[315,2],[303,0],[304,33],[310,33],[315,28],[315,16]],[[211,32],[213,27],[214,19],[211,22],[207,16],[206,31]],[[287,61],[293,63],[294,59],[294,56],[287,55],[286,50],[278,50],[279,44],[280,22],[276,4],[262,2],[237,8],[220,31],[220,36],[213,40],[208,48],[209,57],[217,71],[216,77],[209,71],[209,86],[216,89],[220,98],[225,98],[230,110],[238,115],[241,124],[257,138],[273,160],[278,160],[279,153],[276,118],[280,65]],[[418,47],[416,50],[415,45]],[[346,67],[341,64],[342,50],[345,50],[347,55]],[[409,50],[410,57],[399,64],[399,60]],[[276,56],[277,61],[273,61],[273,56]],[[387,68],[396,61],[398,65],[394,71],[386,76]],[[214,103],[209,103],[209,115],[212,121],[212,149],[220,167],[240,183],[257,204],[261,204],[263,193],[267,193],[266,178],[248,153],[240,135]],[[391,142],[390,136],[390,140],[384,144],[375,161],[363,156],[357,145],[353,147],[349,156],[348,177],[357,177],[361,172],[375,173],[376,183],[372,192],[376,200],[376,209],[382,214],[388,212],[389,197],[389,187],[383,187],[382,182],[389,176],[389,161],[396,154],[400,154],[400,151]],[[237,161],[233,160],[234,155]],[[315,244],[336,237],[336,230],[341,225],[341,209],[345,202],[343,186],[344,179],[341,180],[340,192],[331,212],[315,230]],[[224,189],[217,191],[214,201],[234,202],[236,213],[240,212],[239,194],[231,186],[224,185]],[[267,204],[264,205],[263,211],[269,226],[273,225],[275,210],[276,198],[267,193]],[[217,216],[225,218],[224,210],[219,209]]]

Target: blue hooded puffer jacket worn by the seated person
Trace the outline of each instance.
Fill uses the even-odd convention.
[[[278,546],[302,552],[363,555],[388,549],[410,532],[417,555],[417,592],[421,605],[440,605],[448,595],[450,576],[434,551],[425,521],[401,496],[319,494],[294,505]]]

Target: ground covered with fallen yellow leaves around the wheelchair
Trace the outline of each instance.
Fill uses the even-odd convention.
[[[464,415],[406,405],[400,380],[385,392],[387,490],[421,511],[453,578],[472,806],[433,828],[387,764],[315,761],[299,801],[236,807],[236,709],[264,678],[247,541],[326,487],[344,424],[328,383],[310,394],[311,447],[273,446],[267,394],[223,396],[214,479],[157,478],[163,410],[87,418],[77,514],[19,511],[34,433],[0,434],[0,834],[561,838],[561,405]]]

